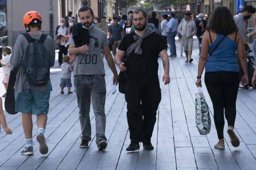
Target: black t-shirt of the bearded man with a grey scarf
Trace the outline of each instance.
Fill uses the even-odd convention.
[[[126,34],[118,49],[126,51],[135,42],[134,32]],[[145,37],[141,44],[142,56],[135,57],[132,51],[127,61],[127,79],[141,86],[159,86],[158,79],[158,54],[167,48],[167,45],[159,34],[152,33]]]

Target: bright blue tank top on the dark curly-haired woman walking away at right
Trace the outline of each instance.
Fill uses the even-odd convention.
[[[209,53],[217,46],[224,34],[217,34],[216,40],[209,46]],[[228,36],[220,46],[208,57],[205,71],[239,71],[236,58],[237,43]]]

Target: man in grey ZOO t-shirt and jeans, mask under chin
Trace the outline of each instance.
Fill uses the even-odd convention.
[[[109,68],[114,74],[113,84],[118,83],[116,80],[118,74],[115,68],[114,60],[111,56],[108,39],[104,31],[94,27],[93,11],[90,7],[84,6],[78,11],[78,16],[83,29],[89,32],[89,45],[78,45],[77,36],[69,37],[67,45],[69,45],[69,54],[75,56],[74,66],[74,85],[79,107],[79,120],[81,125],[81,144],[80,148],[88,148],[91,141],[91,123],[90,123],[90,104],[92,100],[93,111],[96,121],[96,143],[99,150],[106,148],[106,115],[105,115],[105,99],[106,99],[106,83],[104,63],[101,58],[101,49],[105,54]],[[73,30],[76,30],[75,27]],[[78,31],[81,31],[78,29]],[[82,34],[82,31],[80,32]],[[74,34],[75,35],[75,34]],[[75,39],[75,40],[74,40]]]

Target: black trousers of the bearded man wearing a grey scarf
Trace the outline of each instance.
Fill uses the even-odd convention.
[[[159,86],[139,86],[128,81],[124,88],[131,142],[150,142],[161,101],[161,89]]]

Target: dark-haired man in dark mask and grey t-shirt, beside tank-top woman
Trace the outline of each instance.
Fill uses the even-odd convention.
[[[234,21],[239,28],[239,32],[242,34],[242,37],[246,37],[246,22],[245,20],[250,19],[252,14],[255,13],[253,6],[248,5],[243,8],[243,11],[234,16]]]

